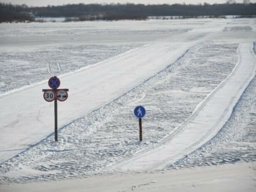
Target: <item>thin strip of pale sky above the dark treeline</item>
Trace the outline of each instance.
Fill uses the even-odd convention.
[[[63,4],[110,4],[110,3],[123,3],[127,2],[134,4],[199,4],[207,2],[209,4],[214,3],[225,3],[227,0],[0,0],[0,2],[12,3],[12,4],[26,4],[29,6],[47,6],[47,5],[63,5]],[[243,2],[243,0],[235,0],[236,2]],[[251,0],[251,2],[256,2],[256,0]]]

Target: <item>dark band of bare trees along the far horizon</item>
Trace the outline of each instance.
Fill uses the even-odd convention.
[[[68,4],[28,7],[0,3],[0,22],[34,21],[34,17],[66,17],[77,20],[141,20],[148,16],[256,15],[256,4]]]

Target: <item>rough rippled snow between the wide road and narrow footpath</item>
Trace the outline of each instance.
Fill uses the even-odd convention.
[[[63,127],[58,143],[52,135],[2,163],[2,174],[7,172],[3,179],[26,182],[86,176],[160,143],[232,71],[237,46],[213,42],[195,46],[144,84]],[[216,57],[221,53],[225,54]],[[132,113],[138,104],[147,109],[143,143],[138,142],[138,122]],[[23,166],[44,174],[28,178],[20,172]],[[9,176],[13,169],[18,178]]]

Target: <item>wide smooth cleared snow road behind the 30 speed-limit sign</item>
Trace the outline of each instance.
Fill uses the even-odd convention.
[[[174,63],[202,40],[204,38],[186,43],[172,43],[170,38],[158,40],[76,73],[60,76],[60,88],[69,88],[69,98],[59,102],[59,127],[118,98]],[[53,103],[43,100],[43,88],[48,88],[46,81],[0,96],[0,162],[54,131]]]

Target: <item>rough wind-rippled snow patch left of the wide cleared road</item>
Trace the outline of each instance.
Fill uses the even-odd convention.
[[[81,45],[61,46],[50,50],[2,52],[0,65],[4,70],[0,72],[0,76],[4,79],[4,84],[0,85],[0,93],[41,82],[48,79],[49,76],[59,76],[70,71],[77,71],[82,67],[115,57],[137,46],[136,44]],[[61,58],[60,55],[62,55]],[[6,73],[7,71],[8,73]]]

